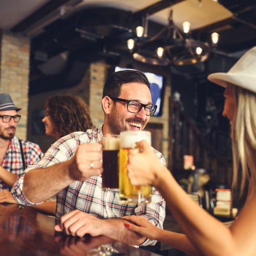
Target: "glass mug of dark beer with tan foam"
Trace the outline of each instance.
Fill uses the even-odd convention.
[[[118,191],[118,155],[120,148],[120,136],[113,134],[103,136],[102,144],[102,189]]]

